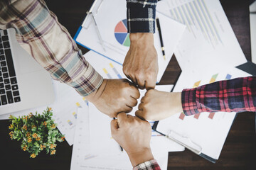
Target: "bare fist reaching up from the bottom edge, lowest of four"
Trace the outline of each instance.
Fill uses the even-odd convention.
[[[111,122],[111,133],[127,152],[132,166],[154,159],[150,149],[151,125],[146,120],[119,113]]]

